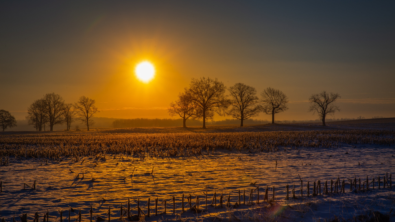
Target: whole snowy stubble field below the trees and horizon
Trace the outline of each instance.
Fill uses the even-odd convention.
[[[394,122],[5,132],[0,216],[128,220],[129,200],[140,221],[395,221]]]

